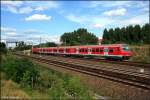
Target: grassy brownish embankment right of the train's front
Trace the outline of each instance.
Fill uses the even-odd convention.
[[[133,56],[131,57],[130,61],[150,63],[149,45],[141,45],[141,46],[130,45],[129,48],[133,52]]]

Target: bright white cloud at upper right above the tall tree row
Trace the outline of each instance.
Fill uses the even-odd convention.
[[[113,9],[110,11],[105,11],[104,15],[105,16],[123,16],[126,13],[126,9],[125,8],[117,8],[117,9]]]

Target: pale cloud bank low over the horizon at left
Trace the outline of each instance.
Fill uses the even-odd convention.
[[[17,40],[39,44],[41,38],[42,43],[44,42],[60,43],[60,35],[50,35],[36,29],[26,29],[18,31],[15,28],[1,27],[1,32],[2,32],[1,40],[5,41]]]

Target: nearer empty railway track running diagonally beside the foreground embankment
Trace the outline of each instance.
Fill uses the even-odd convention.
[[[23,56],[27,58],[34,59],[36,61],[47,63],[50,65],[54,65],[57,67],[62,67],[74,71],[78,71],[81,73],[86,73],[93,76],[98,76],[102,78],[106,78],[109,80],[113,80],[116,82],[121,82],[127,85],[136,86],[143,89],[150,89],[149,80],[150,77],[148,73],[138,73],[134,72],[133,70],[127,71],[123,69],[117,68],[105,68],[105,67],[97,67],[96,65],[91,66],[90,64],[82,64],[80,62],[68,62],[60,59],[46,59],[46,58],[39,58],[36,56],[27,56],[22,54],[16,54],[18,56]]]

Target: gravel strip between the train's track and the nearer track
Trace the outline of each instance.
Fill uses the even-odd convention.
[[[35,57],[40,57],[39,55],[36,55],[36,54],[33,54],[32,56],[35,56]],[[64,62],[74,62],[74,63],[79,63],[79,64],[82,64],[82,65],[86,65],[86,64],[91,64],[91,67],[100,67],[100,68],[107,68],[108,70],[109,69],[116,69],[116,70],[119,70],[119,71],[128,71],[129,72],[133,72],[133,73],[138,73],[138,74],[145,74],[145,75],[150,75],[150,70],[149,70],[149,67],[146,67],[146,68],[140,68],[140,67],[135,67],[135,66],[129,66],[129,65],[116,65],[116,64],[102,64],[101,62],[93,62],[90,60],[82,60],[82,59],[73,59],[73,58],[66,58],[66,57],[61,57],[61,56],[50,56],[50,55],[42,55],[42,57],[46,58],[46,59],[53,59],[53,60],[63,60]],[[102,66],[103,65],[103,66]],[[144,72],[140,72],[141,69],[144,70]]]

